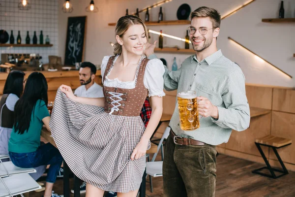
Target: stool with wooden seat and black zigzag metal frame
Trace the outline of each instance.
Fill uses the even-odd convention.
[[[288,146],[292,143],[292,140],[291,139],[286,139],[286,138],[283,138],[283,137],[276,137],[276,136],[273,136],[273,135],[267,135],[265,137],[262,137],[260,139],[256,139],[255,140],[255,144],[262,156],[262,158],[264,159],[265,163],[266,163],[266,166],[265,167],[261,167],[259,169],[256,169],[256,170],[253,170],[252,172],[255,173],[255,174],[260,174],[260,175],[263,175],[263,176],[267,176],[267,177],[270,177],[270,178],[279,178],[281,176],[284,176],[286,174],[288,174],[288,170],[286,169],[281,157],[279,156],[278,152],[277,152],[277,148],[282,148],[282,147],[285,147],[285,146]],[[283,170],[281,169],[275,169],[275,168],[272,168],[270,166],[270,164],[268,163],[267,159],[266,159],[266,156],[264,154],[264,152],[262,151],[260,145],[263,145],[263,146],[268,146],[268,147],[271,147],[274,154],[276,155],[278,161],[280,162]],[[265,174],[265,173],[262,173],[260,172],[260,170],[262,169],[268,169],[270,171],[270,174]],[[276,172],[281,172],[281,174],[279,176],[276,176],[274,174],[274,171]]]

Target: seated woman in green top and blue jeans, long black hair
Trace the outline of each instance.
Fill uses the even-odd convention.
[[[44,197],[52,194],[62,157],[52,144],[40,146],[43,124],[49,129],[50,115],[47,109],[47,82],[40,72],[29,75],[24,93],[14,108],[14,124],[8,143],[9,157],[13,164],[29,168],[48,165]]]

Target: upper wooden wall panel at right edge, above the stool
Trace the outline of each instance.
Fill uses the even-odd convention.
[[[272,109],[295,113],[295,90],[274,88]]]

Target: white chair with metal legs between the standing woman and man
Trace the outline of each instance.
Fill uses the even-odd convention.
[[[153,192],[151,176],[153,176],[153,177],[163,176],[163,170],[162,170],[163,161],[155,162],[155,159],[156,159],[157,154],[160,149],[162,150],[162,155],[163,155],[163,141],[164,141],[164,139],[167,139],[167,137],[169,136],[170,130],[171,130],[170,127],[166,127],[166,129],[160,139],[160,142],[159,142],[159,145],[157,148],[157,152],[153,155],[151,161],[147,162],[147,174],[149,175],[149,183],[150,183],[150,192],[151,193]]]

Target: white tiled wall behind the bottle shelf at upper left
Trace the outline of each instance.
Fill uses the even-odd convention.
[[[58,55],[58,8],[59,0],[29,0],[29,10],[19,10],[20,0],[0,0],[0,30],[6,30],[10,36],[13,31],[16,44],[18,31],[20,31],[22,44],[26,43],[27,31],[29,31],[32,44],[34,31],[37,35],[37,43],[40,43],[40,31],[43,31],[43,43],[46,35],[49,35],[52,47],[0,47],[1,53],[38,53],[42,56],[42,62],[48,63],[49,55]],[[9,40],[8,42],[9,43]]]

